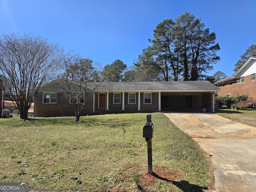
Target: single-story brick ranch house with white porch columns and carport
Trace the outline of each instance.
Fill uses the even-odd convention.
[[[202,108],[214,112],[218,90],[208,81],[102,82],[87,98],[82,116]],[[40,88],[34,100],[34,116],[74,116],[74,110],[67,94],[51,82]]]

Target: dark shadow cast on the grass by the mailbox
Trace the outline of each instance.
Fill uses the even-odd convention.
[[[180,190],[182,190],[183,192],[204,192],[203,190],[207,190],[208,187],[202,187],[202,186],[198,186],[198,185],[194,185],[194,184],[190,184],[187,181],[172,181],[172,180],[168,180],[166,178],[163,178],[161,176],[158,176],[157,174],[155,174],[153,172],[153,176],[155,178],[158,178],[160,180],[166,181],[166,182],[171,182],[172,184],[174,184],[175,186],[177,186],[178,188],[180,188]]]

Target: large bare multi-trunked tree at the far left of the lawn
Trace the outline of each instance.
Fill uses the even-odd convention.
[[[4,91],[13,99],[20,118],[28,119],[40,86],[52,75],[58,63],[58,46],[41,36],[2,35],[0,38],[0,74]]]

